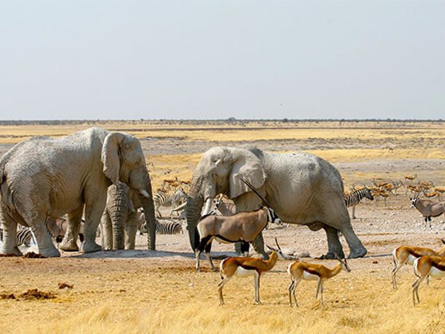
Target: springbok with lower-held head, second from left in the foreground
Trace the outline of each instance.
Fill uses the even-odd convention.
[[[321,305],[323,305],[323,282],[337,276],[341,270],[350,272],[350,268],[348,266],[348,262],[346,259],[341,259],[337,257],[337,260],[340,262],[332,269],[329,269],[322,264],[314,264],[302,261],[296,261],[289,264],[287,268],[287,272],[291,276],[291,285],[289,285],[289,305],[292,306],[292,295],[295,303],[298,307],[297,297],[295,294],[295,290],[297,288],[298,283],[301,280],[316,280],[317,288],[315,299],[318,299],[318,292],[321,292]]]

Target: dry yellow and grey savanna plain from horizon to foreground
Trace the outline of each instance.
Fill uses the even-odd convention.
[[[408,184],[419,180],[445,188],[444,122],[248,122],[248,121],[113,121],[60,122],[44,125],[0,125],[0,155],[31,136],[64,136],[92,126],[123,131],[140,139],[153,190],[163,180],[189,180],[203,152],[216,146],[257,145],[273,152],[312,152],[336,166],[348,189],[354,184],[403,182],[397,193],[357,206],[353,227],[366,257],[350,260],[325,283],[325,305],[315,301],[316,285],[298,285],[300,307],[289,307],[290,261],[280,259],[261,278],[262,303],[254,304],[252,278],[231,280],[218,304],[219,274],[194,260],[184,234],[159,235],[154,252],[138,236],[136,250],[63,253],[60,258],[0,257],[1,333],[445,333],[445,282],[430,281],[419,289],[421,303],[412,305],[414,274],[398,272],[391,287],[391,251],[403,244],[439,248],[445,218],[432,218],[426,228],[410,208]],[[410,181],[405,176],[416,177]],[[284,225],[264,232],[267,244],[277,237],[286,253],[305,253],[316,260],[326,253],[323,230]],[[345,253],[348,246],[341,238]],[[214,243],[217,255],[233,247]],[[218,262],[218,261],[216,261]],[[72,285],[59,289],[59,283]],[[52,299],[20,297],[29,289]],[[2,297],[2,298],[3,298]]]

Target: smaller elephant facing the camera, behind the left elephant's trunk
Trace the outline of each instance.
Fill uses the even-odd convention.
[[[142,198],[137,191],[129,189],[127,184],[118,182],[108,187],[108,196],[104,214],[100,221],[102,248],[134,249],[136,231],[145,221]]]

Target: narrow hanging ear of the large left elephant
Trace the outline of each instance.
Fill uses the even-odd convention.
[[[117,184],[120,173],[120,144],[124,141],[125,134],[112,132],[105,137],[102,146],[101,161],[104,164],[104,174],[108,179]]]

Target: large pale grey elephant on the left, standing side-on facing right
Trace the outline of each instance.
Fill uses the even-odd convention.
[[[0,159],[2,253],[20,255],[17,223],[29,226],[45,257],[60,256],[46,231],[47,217],[67,214],[62,250],[76,244],[85,208],[84,253],[101,250],[96,230],[106,204],[108,186],[123,182],[143,198],[149,249],[155,248],[152,186],[140,142],[122,132],[93,127],[62,138],[36,136],[18,143]]]

